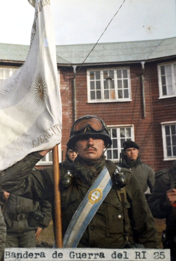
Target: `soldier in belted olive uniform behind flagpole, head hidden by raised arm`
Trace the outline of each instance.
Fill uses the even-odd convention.
[[[5,247],[36,247],[39,235],[51,221],[51,204],[1,191],[1,205],[7,227]]]

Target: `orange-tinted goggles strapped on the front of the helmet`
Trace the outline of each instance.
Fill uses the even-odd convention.
[[[102,122],[98,118],[84,118],[76,121],[72,126],[72,131],[76,133],[85,132],[86,129],[93,130],[95,132],[100,132],[104,130]]]

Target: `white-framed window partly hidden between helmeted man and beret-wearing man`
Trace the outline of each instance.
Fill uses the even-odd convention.
[[[134,126],[133,125],[113,125],[108,126],[112,145],[105,152],[107,159],[114,162],[119,162],[120,153],[123,150],[123,142],[126,140],[134,140]]]

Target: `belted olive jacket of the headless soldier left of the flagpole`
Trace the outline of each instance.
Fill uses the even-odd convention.
[[[1,203],[3,202],[1,194]],[[4,202],[4,220],[7,233],[21,233],[36,230],[38,227],[48,227],[51,221],[51,204],[47,200],[35,201],[10,194]],[[33,214],[38,211],[41,218],[35,218]],[[39,217],[38,216],[38,217]]]

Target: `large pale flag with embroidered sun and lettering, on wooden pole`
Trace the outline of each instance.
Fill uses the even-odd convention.
[[[50,0],[36,0],[23,66],[0,86],[0,171],[61,142],[62,106]]]

